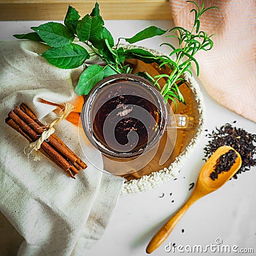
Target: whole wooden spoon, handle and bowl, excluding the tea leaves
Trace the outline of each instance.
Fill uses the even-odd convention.
[[[212,180],[210,178],[210,173],[214,171],[216,161],[221,155],[227,153],[229,150],[234,150],[234,148],[228,146],[220,147],[207,160],[199,173],[195,189],[188,201],[179,209],[178,212],[176,212],[174,216],[172,216],[169,221],[163,225],[163,227],[159,229],[156,235],[152,237],[146,249],[147,253],[154,252],[154,250],[156,250],[156,248],[158,248],[164,242],[184,213],[193,203],[196,202],[196,200],[223,186],[227,180],[229,180],[237,172],[237,170],[239,170],[242,164],[242,159],[239,153],[234,150],[237,154],[237,159],[236,162],[231,166],[230,170],[228,170],[228,172],[222,172],[219,174],[218,179]]]

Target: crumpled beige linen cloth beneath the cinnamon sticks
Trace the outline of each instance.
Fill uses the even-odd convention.
[[[23,151],[28,141],[4,123],[21,102],[49,122],[56,118],[55,107],[40,99],[63,103],[74,98],[72,79],[81,70],[53,67],[38,56],[44,51],[45,45],[37,42],[0,41],[0,211],[24,238],[18,255],[86,255],[108,225],[124,180],[90,163],[74,180],[44,156],[40,162],[28,159]],[[63,120],[55,128],[86,162],[77,127]],[[95,161],[102,161],[89,145],[87,150]]]

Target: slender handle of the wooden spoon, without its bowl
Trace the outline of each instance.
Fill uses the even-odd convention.
[[[179,220],[182,218],[184,213],[189,209],[189,207],[198,199],[197,196],[195,196],[194,193],[190,196],[188,201],[177,211],[170,220],[168,220],[163,227],[161,227],[158,232],[155,234],[154,237],[150,240],[148,243],[148,246],[146,248],[147,253],[152,253],[154,250],[156,250],[163,242],[164,240],[170,235],[173,228],[177,225]]]

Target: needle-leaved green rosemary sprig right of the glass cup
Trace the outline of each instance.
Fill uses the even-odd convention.
[[[182,74],[187,71],[189,72],[189,74],[191,74],[191,76],[193,76],[191,72],[191,63],[194,62],[196,65],[196,75],[199,76],[199,65],[194,56],[196,52],[200,50],[209,51],[213,47],[213,42],[211,40],[211,37],[213,35],[208,36],[207,33],[205,33],[204,31],[199,31],[200,17],[207,10],[210,10],[212,8],[218,8],[216,6],[205,8],[204,3],[202,4],[202,8],[199,8],[198,4],[196,4],[194,1],[187,2],[195,4],[197,9],[196,10],[195,8],[193,8],[190,11],[195,12],[195,22],[193,24],[193,28],[191,29],[191,31],[188,31],[187,29],[179,26],[170,29],[169,32],[171,32],[172,35],[168,35],[166,37],[177,38],[177,40],[179,41],[179,47],[175,48],[175,46],[167,42],[161,44],[167,45],[172,51],[170,52],[169,56],[161,56],[159,58],[159,61],[161,62],[159,67],[170,67],[172,69],[172,72],[171,74],[160,74],[154,77],[154,85],[157,88],[160,88],[158,83],[159,80],[162,78],[165,79],[166,82],[160,92],[164,97],[164,101],[167,102],[168,99],[173,100],[176,108],[176,100],[179,100],[179,102],[185,104],[184,97],[179,90],[179,85],[184,82],[184,79],[181,77]],[[175,33],[177,33],[177,35],[173,35]],[[175,56],[175,60],[172,59],[173,56]],[[148,74],[147,76],[148,79],[152,81],[152,77],[150,77]]]

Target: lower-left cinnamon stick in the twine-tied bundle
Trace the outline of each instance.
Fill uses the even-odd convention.
[[[38,134],[36,134],[29,125],[27,125],[19,116],[17,116],[14,111],[11,111],[8,114],[9,118],[12,118],[13,122],[15,122],[16,125],[19,126],[19,129],[24,134],[27,134],[31,140],[36,141],[38,139]],[[57,163],[58,166],[61,166],[63,170],[65,170],[72,178],[74,178],[74,174],[78,173],[79,170],[77,170],[72,164],[68,163],[68,161],[59,154],[54,148],[52,148],[46,141],[44,141],[41,145],[41,148],[51,156],[52,159],[54,159],[54,163]],[[74,174],[72,173],[74,172]]]

